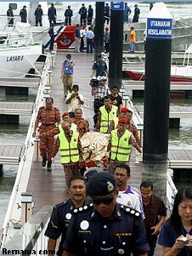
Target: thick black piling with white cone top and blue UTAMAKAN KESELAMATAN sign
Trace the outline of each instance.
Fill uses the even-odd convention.
[[[147,19],[144,82],[144,172],[166,200],[172,15],[155,3]]]

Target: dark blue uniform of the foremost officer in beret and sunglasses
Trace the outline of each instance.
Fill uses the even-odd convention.
[[[109,219],[99,216],[93,207],[78,212],[67,230],[66,251],[76,256],[127,256],[149,251],[144,221],[132,208],[117,203]]]

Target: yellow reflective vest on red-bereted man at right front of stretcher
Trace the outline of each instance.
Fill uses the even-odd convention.
[[[111,131],[111,149],[110,149],[110,159],[118,160],[120,162],[129,161],[129,156],[131,152],[132,145],[129,144],[129,139],[132,135],[131,132],[125,130],[121,138],[117,135],[117,129]]]

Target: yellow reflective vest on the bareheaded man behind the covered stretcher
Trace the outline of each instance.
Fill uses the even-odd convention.
[[[108,113],[105,110],[105,106],[101,106],[99,111],[101,112],[101,122],[99,132],[102,134],[106,134],[109,127],[110,121],[116,118],[118,107],[116,105],[112,105],[111,111]]]

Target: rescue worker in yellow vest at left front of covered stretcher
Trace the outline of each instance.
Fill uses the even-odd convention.
[[[63,132],[58,136],[59,154],[60,162],[64,166],[65,183],[68,185],[71,176],[80,174],[82,144],[79,133],[71,130],[71,122],[63,122],[62,128]]]

